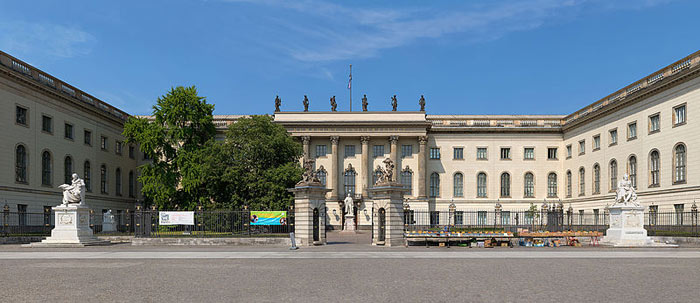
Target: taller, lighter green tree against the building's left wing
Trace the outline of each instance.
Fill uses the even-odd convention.
[[[178,86],[158,98],[151,119],[126,121],[126,142],[139,144],[152,160],[141,167],[142,193],[159,208],[193,209],[209,201],[205,160],[215,146],[213,112],[194,86]]]

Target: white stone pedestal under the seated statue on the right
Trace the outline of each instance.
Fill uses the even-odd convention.
[[[603,245],[614,247],[677,247],[676,245],[655,243],[644,229],[644,207],[614,205],[610,212],[610,228],[601,241]]]

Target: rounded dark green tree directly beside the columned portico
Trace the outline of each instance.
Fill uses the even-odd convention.
[[[301,144],[272,117],[241,118],[210,148],[204,169],[218,180],[207,183],[217,207],[282,210],[294,201],[287,189],[301,179]]]

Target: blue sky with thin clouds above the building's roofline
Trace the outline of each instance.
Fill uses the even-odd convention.
[[[700,1],[3,1],[0,49],[131,114],[196,85],[215,114],[569,114],[697,51]]]

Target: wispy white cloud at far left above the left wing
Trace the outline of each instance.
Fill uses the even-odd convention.
[[[13,54],[70,58],[90,53],[97,39],[76,27],[0,21],[0,48]]]

